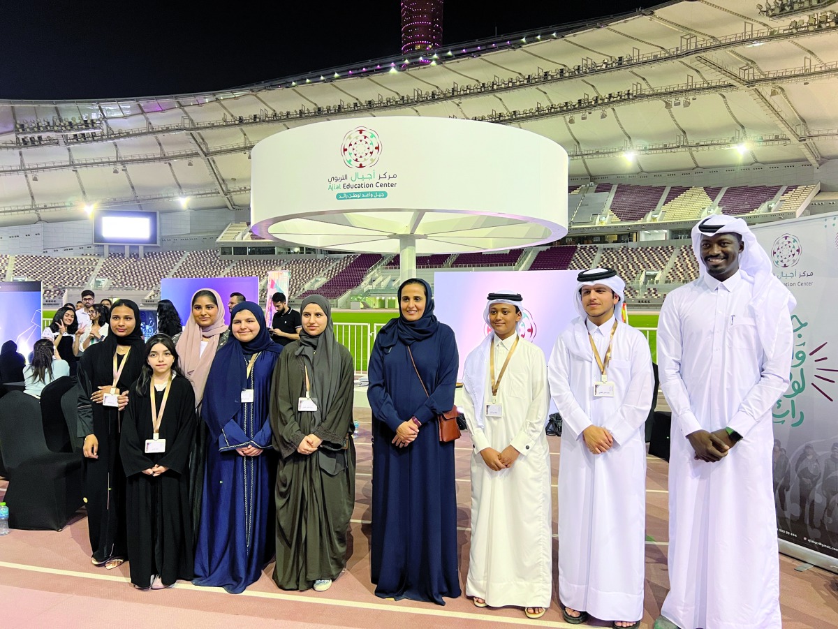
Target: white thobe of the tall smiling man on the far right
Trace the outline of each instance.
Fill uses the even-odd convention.
[[[781,626],[771,407],[789,384],[793,337],[780,317],[767,355],[752,301],[743,271],[724,282],[705,274],[660,310],[660,385],[672,408],[670,592],[661,613],[682,629]],[[725,427],[742,441],[722,461],[696,461],[686,436]]]

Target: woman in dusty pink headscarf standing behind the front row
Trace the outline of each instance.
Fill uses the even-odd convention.
[[[163,300],[165,301],[168,300]],[[158,313],[160,304],[158,304]],[[220,304],[221,296],[213,289],[202,288],[196,291],[192,296],[192,310],[186,327],[182,333],[172,337],[178,350],[178,367],[192,383],[195,409],[199,416],[189,462],[189,496],[191,497],[189,500],[192,504],[192,539],[194,540],[198,539],[201,496],[204,490],[204,467],[206,467],[207,428],[206,424],[200,420],[201,403],[204,400],[204,387],[215,353],[224,347],[227,339],[230,338],[230,328],[224,322],[224,308],[220,307]],[[163,317],[161,317],[161,322],[163,322]],[[178,319],[178,325],[179,323]]]

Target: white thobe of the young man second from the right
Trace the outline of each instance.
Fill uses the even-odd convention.
[[[594,397],[602,379],[588,340],[605,359],[613,317],[597,327],[577,317],[556,340],[547,365],[561,414],[559,458],[559,596],[561,604],[612,621],[643,616],[646,447],[644,422],[654,375],[649,342],[618,323],[606,374],[614,397]],[[613,446],[591,454],[582,436],[607,428]]]

